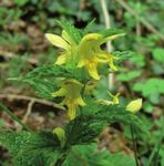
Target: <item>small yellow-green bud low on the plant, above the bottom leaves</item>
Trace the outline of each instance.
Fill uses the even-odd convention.
[[[65,142],[65,131],[62,127],[57,127],[53,129],[53,134],[58,136],[61,146],[63,146]]]

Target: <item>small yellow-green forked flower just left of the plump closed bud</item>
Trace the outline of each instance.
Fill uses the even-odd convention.
[[[100,102],[104,105],[114,105],[114,104],[119,104],[119,96],[120,93],[116,93],[115,95],[113,95],[111,92],[107,92],[109,95],[112,97],[112,101],[106,101],[106,100],[100,100]]]

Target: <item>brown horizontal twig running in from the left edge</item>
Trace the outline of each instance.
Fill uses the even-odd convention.
[[[9,100],[23,100],[23,101],[33,101],[34,103],[40,103],[48,106],[53,106],[59,110],[64,110],[63,106],[59,106],[52,102],[49,102],[47,100],[35,98],[32,96],[25,96],[25,95],[17,95],[17,94],[0,94],[0,98],[9,98]]]

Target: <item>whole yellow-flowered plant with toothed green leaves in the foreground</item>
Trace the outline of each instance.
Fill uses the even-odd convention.
[[[117,71],[119,62],[131,55],[131,52],[109,53],[102,49],[102,44],[125,33],[117,29],[91,33],[90,23],[80,30],[65,20],[59,24],[61,37],[45,33],[47,40],[61,50],[57,60],[18,80],[30,84],[41,97],[63,106],[65,124],[53,131],[0,129],[0,143],[13,156],[16,166],[116,166],[116,163],[112,164],[109,152],[95,153],[95,137],[114,122],[131,125],[137,133],[143,132],[143,124],[134,114],[141,108],[142,100],[127,106],[120,105],[119,92],[112,94],[106,90],[107,101],[96,100],[93,90],[102,76]],[[6,107],[2,110],[7,111]]]

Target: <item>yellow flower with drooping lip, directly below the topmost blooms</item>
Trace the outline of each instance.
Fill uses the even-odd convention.
[[[76,110],[79,106],[84,106],[85,103],[81,96],[81,90],[83,85],[76,80],[70,79],[64,80],[61,83],[61,89],[52,93],[52,96],[64,96],[64,100],[60,103],[61,105],[68,106],[68,116],[70,120],[75,117]]]

